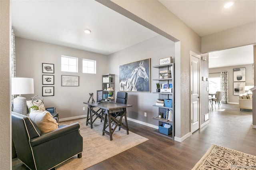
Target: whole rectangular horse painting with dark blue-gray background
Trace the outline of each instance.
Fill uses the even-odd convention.
[[[150,58],[119,65],[119,90],[150,92]]]

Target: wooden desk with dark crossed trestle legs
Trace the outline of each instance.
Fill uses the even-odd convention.
[[[104,118],[104,125],[102,130],[102,135],[105,133],[110,136],[110,140],[112,140],[112,134],[116,130],[117,127],[123,128],[126,130],[127,134],[129,134],[129,128],[127,124],[127,118],[126,118],[126,107],[132,107],[132,105],[122,104],[122,103],[114,103],[114,102],[102,102],[102,103],[88,103],[84,102],[84,104],[88,105],[88,112],[87,112],[87,119],[86,119],[86,125],[90,124],[92,128],[92,124],[97,118],[103,119]],[[94,107],[100,108],[97,112],[93,110]],[[114,117],[111,115],[111,113],[120,111],[120,117]],[[100,111],[100,112],[99,112]],[[105,113],[105,116],[104,114]],[[96,118],[93,120],[93,114],[97,115]],[[90,118],[89,118],[90,116]],[[125,119],[125,124],[122,123],[122,118]],[[114,122],[116,125],[112,129],[111,122]],[[108,127],[108,131],[107,131]]]

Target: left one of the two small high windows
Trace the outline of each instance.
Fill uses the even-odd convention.
[[[78,73],[78,58],[61,56],[61,71]]]

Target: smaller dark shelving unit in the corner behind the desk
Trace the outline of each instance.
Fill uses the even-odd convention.
[[[115,101],[115,74],[102,75],[102,90],[103,99],[108,101]],[[112,92],[112,98],[110,98],[109,92]]]

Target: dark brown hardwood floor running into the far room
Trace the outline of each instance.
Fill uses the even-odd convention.
[[[154,128],[129,121],[130,131],[149,140],[87,170],[190,170],[212,144],[256,155],[256,129],[251,126],[251,110],[240,111],[238,105],[221,103],[209,117],[208,125],[181,143],[159,134]],[[24,166],[13,166],[13,169],[21,170]]]

